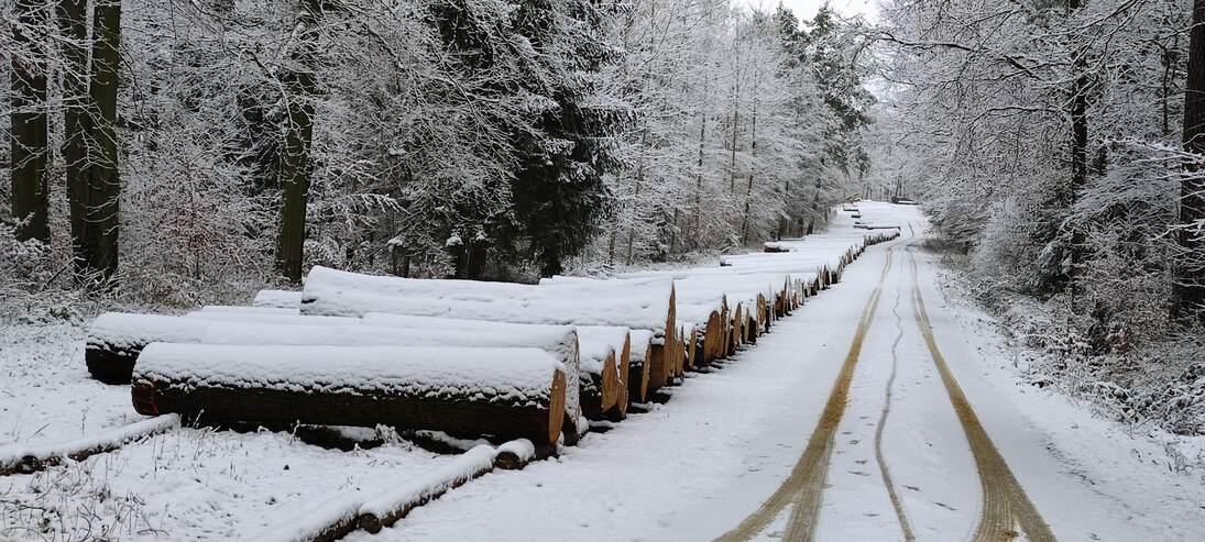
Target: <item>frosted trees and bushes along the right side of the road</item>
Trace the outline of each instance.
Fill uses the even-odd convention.
[[[876,175],[1051,354],[1035,382],[1205,431],[1205,1],[890,1],[880,23]]]

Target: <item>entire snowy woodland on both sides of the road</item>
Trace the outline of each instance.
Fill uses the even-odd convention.
[[[0,306],[607,272],[906,195],[1036,384],[1205,434],[1194,7],[6,1]]]

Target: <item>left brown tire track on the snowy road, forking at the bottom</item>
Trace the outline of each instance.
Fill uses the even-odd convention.
[[[841,424],[841,418],[845,416],[850,384],[853,382],[854,369],[862,353],[862,343],[875,319],[883,283],[887,281],[887,275],[895,260],[894,248],[894,246],[887,248],[887,264],[878,277],[878,284],[875,285],[875,290],[866,301],[866,307],[863,308],[862,318],[858,320],[858,330],[850,344],[850,353],[846,354],[841,371],[837,373],[836,382],[833,384],[833,390],[824,405],[824,411],[821,412],[819,422],[817,422],[803,455],[792,469],[790,476],[774,495],[770,495],[770,499],[763,502],[748,518],[745,518],[740,525],[716,538],[717,542],[740,542],[753,538],[764,531],[788,505],[794,505],[794,507],[782,540],[811,541],[816,538],[824,481],[828,475],[829,456],[833,454],[833,441],[837,426]]]

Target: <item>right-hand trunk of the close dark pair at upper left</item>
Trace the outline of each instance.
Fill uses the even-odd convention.
[[[117,90],[120,84],[122,2],[98,0],[93,11],[92,141],[83,238],[84,265],[111,277],[117,271],[122,181],[117,169]]]

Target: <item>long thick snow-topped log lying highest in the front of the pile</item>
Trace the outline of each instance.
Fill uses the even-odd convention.
[[[606,284],[604,284],[606,283]],[[360,317],[369,312],[521,324],[616,325],[657,335],[648,355],[652,389],[681,365],[671,279],[619,285],[582,282],[566,288],[474,281],[375,277],[315,267],[301,313]]]

